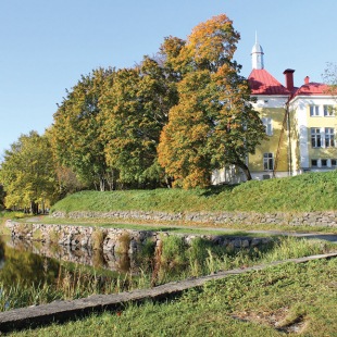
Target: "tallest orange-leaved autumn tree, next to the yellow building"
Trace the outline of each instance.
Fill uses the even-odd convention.
[[[179,102],[161,134],[160,164],[185,188],[208,186],[212,171],[229,164],[250,179],[246,157],[265,136],[248,83],[233,61],[239,34],[223,14],[198,25],[186,43],[170,39],[167,62],[182,80]]]

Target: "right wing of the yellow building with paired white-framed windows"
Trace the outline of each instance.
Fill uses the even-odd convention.
[[[310,82],[291,96],[289,102],[290,172],[329,171],[337,167],[336,97],[326,85]]]

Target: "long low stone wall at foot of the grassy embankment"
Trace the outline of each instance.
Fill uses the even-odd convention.
[[[53,212],[53,217],[102,217],[115,220],[197,222],[213,224],[277,224],[337,227],[337,211],[302,213],[255,213],[255,212],[154,212],[154,211],[112,211],[112,212]]]

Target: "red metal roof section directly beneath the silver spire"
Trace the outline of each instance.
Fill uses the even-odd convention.
[[[266,70],[252,70],[248,77],[252,95],[290,95]]]

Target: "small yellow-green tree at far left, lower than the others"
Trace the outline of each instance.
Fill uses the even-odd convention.
[[[0,182],[7,208],[38,213],[57,198],[54,163],[47,137],[36,132],[22,135],[4,153]]]

